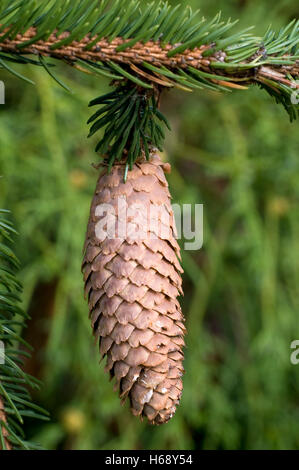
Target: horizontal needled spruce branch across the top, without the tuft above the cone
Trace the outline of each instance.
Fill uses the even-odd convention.
[[[129,68],[147,84],[222,90],[267,80],[280,93],[299,88],[296,20],[256,37],[250,27],[231,34],[236,22],[224,22],[220,14],[207,21],[167,2],[52,0],[37,6],[35,0],[13,0],[1,2],[0,21],[2,65],[35,54],[70,65],[80,61],[81,68],[108,75],[122,64],[120,77],[128,78]]]

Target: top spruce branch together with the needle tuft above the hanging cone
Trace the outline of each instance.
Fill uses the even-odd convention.
[[[255,36],[251,27],[234,32],[235,24],[223,21],[220,13],[208,21],[189,7],[162,1],[44,0],[36,4],[35,0],[3,0],[0,66],[25,79],[14,71],[13,62],[42,66],[64,88],[53,72],[51,58],[111,78],[118,87],[112,101],[123,98],[122,110],[130,103],[126,93],[135,87],[132,99],[139,108],[136,111],[132,105],[135,114],[127,117],[136,122],[130,121],[130,131],[122,139],[115,130],[120,124],[116,101],[105,103],[105,116],[91,130],[93,134],[105,128],[97,151],[108,152],[110,166],[122,158],[120,149],[126,151],[131,166],[138,152],[148,153],[146,146],[162,145],[163,129],[155,125],[157,117],[159,121],[156,111],[151,110],[154,120],[149,119],[142,138],[140,104],[144,97],[150,102],[165,88],[232,91],[258,85],[285,107],[291,120],[296,118],[299,20],[279,32],[269,28],[263,37]],[[160,115],[161,120],[165,118]]]

